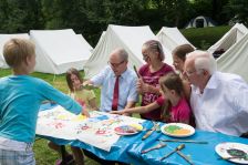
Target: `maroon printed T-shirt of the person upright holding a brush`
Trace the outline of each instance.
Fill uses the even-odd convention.
[[[140,69],[138,73],[145,83],[158,89],[159,87],[159,83],[158,83],[159,78],[167,74],[168,72],[172,72],[172,71],[174,72],[173,68],[166,63],[164,63],[164,65],[161,68],[161,70],[158,70],[156,72],[151,72],[149,65],[145,64]],[[142,95],[142,106],[145,106],[145,105],[148,105],[148,104],[155,102],[159,96],[161,95],[155,94],[155,93],[149,93],[149,92],[144,93]],[[161,109],[154,110],[148,113],[143,113],[143,114],[141,114],[141,116],[146,120],[159,121],[161,120]]]

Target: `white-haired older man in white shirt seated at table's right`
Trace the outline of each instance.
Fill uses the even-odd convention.
[[[217,72],[213,55],[189,53],[184,75],[192,84],[190,105],[199,130],[240,136],[248,131],[248,84],[239,76]]]

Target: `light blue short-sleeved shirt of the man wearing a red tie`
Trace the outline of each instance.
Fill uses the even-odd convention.
[[[91,79],[93,85],[102,86],[100,111],[108,112],[112,110],[115,79],[116,76],[110,66],[106,66]],[[125,109],[127,102],[137,102],[136,81],[137,76],[135,72],[130,69],[120,76],[117,110]]]

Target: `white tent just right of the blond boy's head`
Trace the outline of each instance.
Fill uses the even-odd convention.
[[[30,39],[37,47],[38,72],[61,74],[70,68],[82,70],[91,55],[72,29],[31,30]]]

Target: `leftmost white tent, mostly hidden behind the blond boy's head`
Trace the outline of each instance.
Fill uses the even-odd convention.
[[[10,39],[18,38],[18,39],[29,39],[28,33],[19,33],[19,34],[0,34],[0,68],[8,69],[8,64],[4,61],[2,51],[3,51],[3,45],[6,44],[7,41]]]

